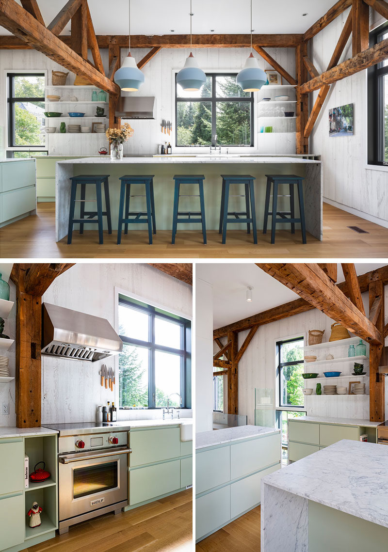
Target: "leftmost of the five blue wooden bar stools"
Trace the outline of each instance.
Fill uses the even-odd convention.
[[[111,202],[109,201],[108,177],[109,177],[109,174],[79,174],[78,176],[73,176],[70,178],[71,193],[70,193],[69,231],[67,232],[67,243],[71,243],[71,238],[73,234],[73,225],[75,222],[79,222],[80,224],[80,234],[83,234],[83,225],[85,224],[85,222],[87,223],[96,222],[96,224],[98,224],[98,241],[99,243],[104,243],[103,232],[102,232],[102,217],[106,216],[107,223],[108,223],[108,233],[109,234],[112,233]],[[75,210],[75,204],[76,204],[78,184],[81,184],[81,199],[78,200],[81,202],[81,209],[80,209],[80,218],[75,219],[74,210]],[[96,199],[85,199],[86,184],[94,184],[96,186]],[[101,184],[104,185],[105,208],[106,208],[105,211],[102,210]],[[86,201],[97,201],[97,210],[86,211],[85,210]]]

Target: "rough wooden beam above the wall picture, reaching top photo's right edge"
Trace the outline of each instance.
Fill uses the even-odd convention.
[[[387,57],[388,39],[384,39],[375,46],[351,57],[349,60],[343,61],[336,67],[324,71],[319,77],[312,78],[311,81],[301,84],[301,86],[297,87],[297,91],[301,94],[308,94],[313,90],[318,90],[318,88],[321,88],[324,84],[333,84],[333,82],[340,81],[345,77],[350,77],[355,73],[368,69],[368,67],[380,61],[386,60]]]

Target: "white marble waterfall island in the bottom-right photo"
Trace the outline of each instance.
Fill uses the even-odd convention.
[[[377,552],[388,542],[388,448],[341,440],[261,481],[261,552]]]

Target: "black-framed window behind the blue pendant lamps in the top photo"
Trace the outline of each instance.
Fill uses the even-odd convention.
[[[175,145],[254,145],[253,92],[243,92],[237,73],[206,73],[198,92],[185,92],[175,82]]]

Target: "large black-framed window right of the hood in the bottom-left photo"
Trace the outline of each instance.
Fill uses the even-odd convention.
[[[191,408],[190,320],[123,295],[118,320],[120,408]]]

